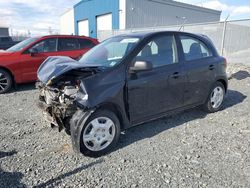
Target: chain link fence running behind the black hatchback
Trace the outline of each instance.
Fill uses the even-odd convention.
[[[128,30],[98,31],[98,39],[103,41],[109,37],[141,31],[185,31],[207,35],[212,39],[218,52],[227,58],[229,63],[250,65],[250,19],[176,25],[167,27],[151,27]]]

